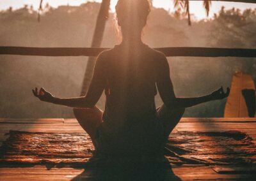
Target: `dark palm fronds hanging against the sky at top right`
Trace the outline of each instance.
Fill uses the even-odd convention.
[[[186,15],[188,15],[188,25],[191,25],[191,19],[190,19],[190,13],[189,13],[189,0],[174,0],[174,7],[182,7],[186,10]],[[207,17],[209,16],[209,10],[211,6],[211,0],[204,0],[204,8],[207,14]]]

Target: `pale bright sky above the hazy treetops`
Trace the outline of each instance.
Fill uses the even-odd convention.
[[[101,2],[101,0],[95,0],[96,2]],[[111,10],[115,10],[115,4],[118,0],[111,0]],[[62,4],[67,5],[74,5],[78,6],[81,3],[85,3],[86,0],[44,0],[45,3],[49,3],[53,7],[60,6]],[[154,6],[161,7],[166,10],[173,11],[173,0],[154,0]],[[38,8],[40,3],[40,0],[0,0],[0,10],[5,10],[12,6],[14,9],[20,8],[24,6],[24,4],[33,5],[35,8]],[[244,10],[246,8],[256,8],[256,4],[250,4],[250,3],[226,3],[226,2],[212,2],[210,15],[209,17],[212,17],[214,13],[217,13],[221,6],[225,6],[227,9],[230,8],[240,8],[241,10]],[[202,5],[202,1],[194,1],[190,2],[190,11],[195,15],[196,18],[202,19],[206,18],[205,10]]]

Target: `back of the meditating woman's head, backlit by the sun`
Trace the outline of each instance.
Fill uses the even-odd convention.
[[[149,13],[148,0],[118,0],[116,4],[116,19],[122,33],[126,31],[133,34],[134,31],[141,31],[147,24]]]

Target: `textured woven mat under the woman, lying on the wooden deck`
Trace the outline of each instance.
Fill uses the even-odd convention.
[[[84,164],[93,145],[83,133],[28,133],[10,131],[0,148],[0,163]],[[171,134],[166,158],[173,164],[254,164],[256,145],[239,131]]]

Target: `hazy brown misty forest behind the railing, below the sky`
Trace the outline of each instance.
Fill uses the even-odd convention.
[[[0,11],[0,46],[90,47],[99,3],[81,6],[47,5],[37,22],[31,6]],[[169,13],[153,8],[143,31],[150,47],[256,48],[256,10],[221,11],[209,20],[188,25],[182,11]],[[109,16],[102,47],[118,43],[113,14]],[[72,108],[36,99],[31,89],[45,87],[60,98],[77,97],[81,92],[88,57],[38,57],[0,55],[0,117],[73,118]],[[175,94],[204,96],[230,86],[235,71],[256,79],[255,58],[168,57]],[[186,109],[184,117],[223,117],[225,101],[212,101]],[[97,103],[104,108],[104,95]],[[161,99],[156,96],[156,105]]]

